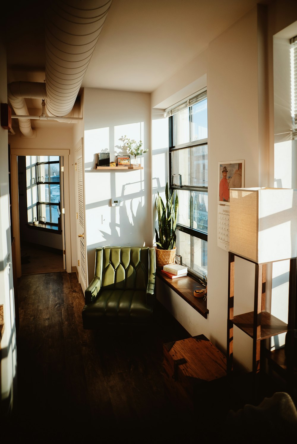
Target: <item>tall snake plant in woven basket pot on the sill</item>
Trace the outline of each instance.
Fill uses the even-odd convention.
[[[159,233],[156,231],[156,265],[162,268],[164,265],[172,264],[175,260],[177,235],[178,197],[174,198],[169,194],[168,182],[165,188],[166,202],[164,202],[158,192],[156,197],[156,207],[158,213]]]

